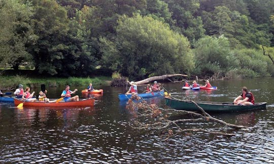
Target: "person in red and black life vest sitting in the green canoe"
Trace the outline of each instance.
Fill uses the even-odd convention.
[[[243,87],[242,95],[234,99],[235,105],[254,105],[254,103],[255,103],[255,98],[253,94],[248,91],[247,87]]]

